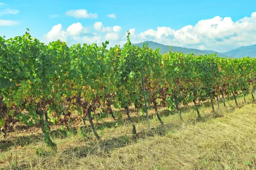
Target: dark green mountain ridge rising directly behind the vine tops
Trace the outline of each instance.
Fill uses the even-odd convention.
[[[145,42],[140,42],[134,45],[138,45],[140,48],[143,47],[143,43],[148,43],[148,47],[152,48],[153,50],[159,48],[160,54],[168,53],[170,51],[170,46],[169,45],[163,45],[159,44],[157,42],[153,41],[145,41]],[[217,53],[218,57],[227,57],[226,55],[222,53],[218,53],[216,51],[211,51],[211,50],[198,50],[198,49],[193,49],[193,48],[183,48],[183,47],[176,47],[172,46],[172,51],[173,52],[182,52],[184,54],[195,54],[195,55],[207,55],[207,54],[214,54]]]

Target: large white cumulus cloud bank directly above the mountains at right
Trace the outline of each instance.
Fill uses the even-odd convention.
[[[152,40],[166,45],[225,52],[239,46],[256,44],[256,12],[238,21],[216,16],[178,30],[157,27],[157,30],[148,29],[135,34],[135,28],[132,28],[129,32],[134,43]]]

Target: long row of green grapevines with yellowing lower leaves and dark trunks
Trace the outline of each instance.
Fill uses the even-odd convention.
[[[129,32],[122,49],[119,45],[107,49],[108,41],[102,46],[68,46],[60,40],[47,45],[28,31],[8,40],[0,37],[0,127],[4,138],[17,124],[39,126],[45,144],[56,152],[52,125],[69,130],[74,122],[89,124],[95,139],[101,141],[95,124],[110,118],[117,124],[124,116],[118,111],[121,109],[130,121],[129,133],[139,134],[131,110],[145,117],[149,131],[151,108],[160,126],[165,126],[159,107],[174,111],[182,122],[182,107],[193,106],[200,120],[199,107],[208,101],[212,113],[220,108],[229,110],[230,100],[239,108],[239,96],[244,103],[256,102],[255,58],[171,51],[161,55],[147,44],[143,48],[132,45]]]

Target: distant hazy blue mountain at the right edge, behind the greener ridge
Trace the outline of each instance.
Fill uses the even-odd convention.
[[[256,44],[250,46],[242,46],[222,54],[226,56],[232,56],[234,58],[256,57]]]

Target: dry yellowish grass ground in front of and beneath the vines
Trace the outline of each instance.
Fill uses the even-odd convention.
[[[256,169],[256,105],[239,108],[229,101],[215,112],[206,103],[200,108],[202,119],[192,106],[182,108],[184,121],[175,112],[159,108],[164,126],[157,117],[147,130],[145,116],[132,112],[138,134],[124,116],[98,122],[96,141],[87,125],[61,130],[52,125],[54,152],[42,142],[39,127],[17,125],[7,139],[0,139],[1,169],[34,170],[254,170]],[[251,101],[247,96],[247,101]],[[124,111],[122,111],[124,113]],[[153,114],[150,110],[150,114]],[[125,115],[125,114],[124,114]]]

